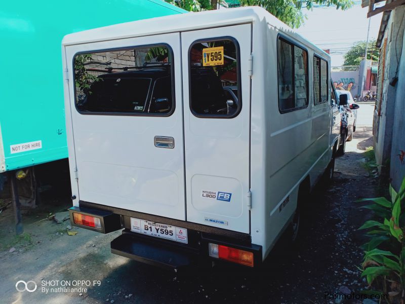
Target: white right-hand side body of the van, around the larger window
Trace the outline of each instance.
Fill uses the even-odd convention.
[[[263,29],[264,26],[261,26]],[[254,58],[261,67],[254,68],[252,78],[251,221],[252,242],[263,245],[263,257],[266,257],[294,215],[300,183],[309,176],[313,186],[331,160],[331,106],[329,102],[316,106],[313,103],[312,45],[294,33],[267,24],[265,35],[258,37],[259,27],[254,27],[253,33]],[[285,113],[280,113],[278,107],[279,34],[308,52],[308,106]],[[260,40],[266,42],[262,47],[263,53],[255,48],[255,43],[260,46]],[[261,84],[261,80],[264,83]],[[265,102],[260,105],[255,103],[260,99]],[[260,133],[258,130],[263,131]],[[263,145],[259,144],[260,140]],[[263,176],[263,180],[259,176]],[[263,207],[258,206],[263,204],[256,201],[258,198],[263,198]],[[259,222],[263,225],[258,225]],[[264,238],[261,236],[262,229]]]

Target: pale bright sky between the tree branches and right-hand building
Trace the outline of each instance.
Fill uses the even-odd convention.
[[[297,31],[322,50],[331,49],[331,65],[343,64],[343,54],[356,41],[366,41],[369,18],[368,8],[361,8],[361,2],[346,11],[336,7],[304,9],[308,19]],[[376,39],[380,29],[382,13],[371,17],[369,40]]]

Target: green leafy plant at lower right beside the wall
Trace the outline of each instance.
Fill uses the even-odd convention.
[[[370,237],[370,241],[361,246],[365,250],[361,276],[367,278],[369,285],[380,279],[380,285],[376,287],[384,292],[387,291],[389,282],[391,297],[400,295],[405,290],[404,198],[405,178],[392,202],[386,198],[359,200],[372,201],[373,205],[363,208],[373,210],[377,217],[384,218],[382,222],[368,220],[359,228],[369,230],[366,235]]]

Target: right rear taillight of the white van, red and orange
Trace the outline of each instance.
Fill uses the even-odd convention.
[[[253,267],[253,252],[213,243],[209,243],[208,247],[209,255],[211,257]]]

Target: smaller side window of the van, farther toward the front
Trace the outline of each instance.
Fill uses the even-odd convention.
[[[317,56],[313,57],[313,92],[315,104],[328,101],[328,62]]]

